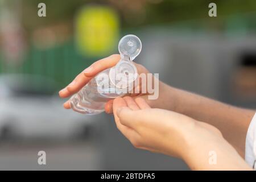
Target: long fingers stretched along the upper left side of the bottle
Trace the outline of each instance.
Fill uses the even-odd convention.
[[[112,55],[93,63],[90,67],[82,71],[76,78],[66,86],[64,89],[60,90],[59,96],[62,98],[69,97],[72,94],[78,92],[84,85],[86,85],[93,76],[97,73],[113,67],[119,61],[119,55]]]

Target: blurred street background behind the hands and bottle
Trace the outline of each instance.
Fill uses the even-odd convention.
[[[39,3],[46,17],[39,17]],[[210,2],[217,17],[208,16]],[[112,115],[64,110],[58,91],[137,35],[160,80],[256,107],[256,1],[0,0],[0,169],[187,170],[135,149]],[[38,165],[38,151],[47,164]]]

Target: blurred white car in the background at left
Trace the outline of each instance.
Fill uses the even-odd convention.
[[[0,138],[68,138],[91,118],[63,108],[56,82],[30,75],[0,75]]]

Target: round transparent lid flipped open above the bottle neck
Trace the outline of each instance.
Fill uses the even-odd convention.
[[[132,61],[142,49],[141,40],[135,35],[126,35],[119,41],[118,50],[122,59]]]

